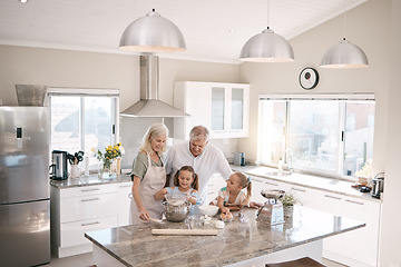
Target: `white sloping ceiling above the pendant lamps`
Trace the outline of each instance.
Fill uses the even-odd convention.
[[[346,0],[346,10],[365,1]],[[187,46],[160,57],[238,62],[267,17],[271,29],[290,40],[341,14],[344,2],[271,0],[267,16],[267,0],[1,0],[0,44],[134,55],[118,49],[121,33],[153,8],[182,30]]]

